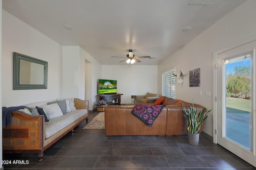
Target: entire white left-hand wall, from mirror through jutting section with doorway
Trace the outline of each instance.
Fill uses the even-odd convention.
[[[101,64],[79,46],[61,46],[8,12],[2,10],[2,15],[2,105],[20,106],[72,97],[89,100],[89,109],[94,109]],[[47,89],[12,90],[13,52],[48,62]],[[85,61],[90,64],[87,68]],[[86,89],[85,77],[90,85]]]

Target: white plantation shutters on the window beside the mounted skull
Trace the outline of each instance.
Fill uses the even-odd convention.
[[[171,68],[162,74],[162,96],[175,98],[175,68]]]

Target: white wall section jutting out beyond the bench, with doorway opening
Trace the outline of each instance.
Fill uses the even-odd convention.
[[[89,100],[94,109],[101,64],[79,46],[63,46],[62,56],[62,98]]]

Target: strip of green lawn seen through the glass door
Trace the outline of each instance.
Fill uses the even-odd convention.
[[[227,106],[226,106],[227,113],[250,113],[251,111],[250,100],[227,98],[226,102],[227,102]]]

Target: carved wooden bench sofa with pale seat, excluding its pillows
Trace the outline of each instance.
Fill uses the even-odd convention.
[[[41,104],[43,103],[47,104],[47,102]],[[12,111],[11,124],[3,128],[3,152],[38,153],[38,161],[42,161],[44,150],[67,133],[73,134],[74,128],[82,121],[88,121],[88,100],[75,98],[74,103],[77,110],[48,122],[44,121],[44,115],[28,115],[22,111]],[[56,131],[57,128],[60,129]],[[51,131],[50,135],[47,135],[49,131]]]

